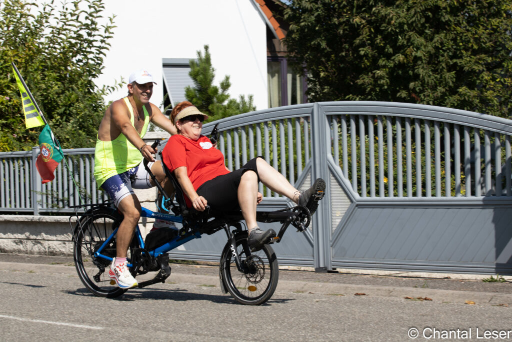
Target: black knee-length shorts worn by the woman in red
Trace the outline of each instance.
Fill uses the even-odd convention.
[[[238,186],[240,179],[246,171],[254,171],[260,182],[260,175],[256,166],[255,157],[238,170],[210,179],[197,189],[197,194],[208,201],[208,206],[215,211],[240,210],[238,205]]]

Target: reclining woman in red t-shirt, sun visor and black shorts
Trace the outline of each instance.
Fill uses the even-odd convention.
[[[171,119],[178,134],[169,138],[162,152],[163,162],[176,175],[188,207],[198,211],[204,211],[206,205],[215,211],[241,209],[249,229],[249,246],[252,250],[261,249],[275,232],[272,229],[262,231],[258,227],[256,206],[263,199],[258,192],[258,183],[262,182],[272,191],[305,206],[310,197],[325,190],[325,182],[318,178],[311,188],[301,193],[262,157],[251,159],[240,169],[230,172],[224,165],[222,152],[201,135],[203,121],[207,118],[188,101],[176,105]],[[310,209],[314,211],[316,208]]]

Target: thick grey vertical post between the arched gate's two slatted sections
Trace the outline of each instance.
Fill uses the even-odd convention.
[[[318,209],[312,217],[313,222],[313,261],[316,272],[332,270],[331,266],[331,208],[329,193],[329,167],[327,153],[331,151],[329,141],[329,122],[321,111],[318,103],[313,106],[311,114],[311,184],[316,178],[323,178],[327,185],[326,198],[319,203]]]

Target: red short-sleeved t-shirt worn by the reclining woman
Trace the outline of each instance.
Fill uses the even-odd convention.
[[[197,140],[180,134],[173,135],[162,151],[162,158],[170,172],[185,166],[194,190],[210,179],[229,173],[224,164],[224,155],[204,135]],[[187,205],[191,206],[188,198],[186,200]]]

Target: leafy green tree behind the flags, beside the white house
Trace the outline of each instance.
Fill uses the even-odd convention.
[[[113,17],[101,1],[77,0],[38,7],[22,0],[0,5],[0,151],[37,145],[40,127],[25,129],[22,103],[10,62],[14,62],[63,148],[93,147],[105,111],[98,88],[110,47]]]

